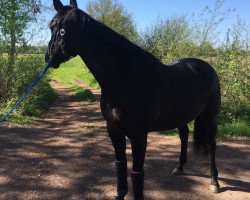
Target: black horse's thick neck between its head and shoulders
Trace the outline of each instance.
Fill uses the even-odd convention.
[[[101,88],[111,93],[131,80],[151,76],[161,63],[148,52],[134,45],[104,25],[92,21],[79,47],[85,61]],[[104,35],[101,35],[104,30]],[[107,32],[105,32],[107,31]],[[112,40],[111,40],[112,39]]]

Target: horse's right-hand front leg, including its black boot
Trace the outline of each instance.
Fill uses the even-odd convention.
[[[144,159],[147,147],[147,132],[141,131],[131,134],[130,137],[133,156],[131,172],[134,200],[143,200],[144,190]]]

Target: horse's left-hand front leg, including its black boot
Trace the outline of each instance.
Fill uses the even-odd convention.
[[[117,197],[123,200],[128,193],[126,138],[117,127],[107,124],[107,131],[115,149],[115,164],[117,170]]]

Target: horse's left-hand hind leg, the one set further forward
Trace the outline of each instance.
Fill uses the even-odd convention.
[[[187,162],[187,143],[188,143],[188,134],[189,134],[188,126],[185,125],[185,126],[179,127],[178,131],[179,131],[179,136],[181,139],[181,153],[179,157],[179,163],[172,172],[172,174],[174,175],[182,175],[183,166]]]

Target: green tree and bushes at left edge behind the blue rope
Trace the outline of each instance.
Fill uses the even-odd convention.
[[[20,54],[27,53],[26,31],[29,29],[29,35],[35,35],[30,32],[30,25],[36,22],[41,6],[40,0],[0,1],[0,36],[3,38],[0,40],[1,114],[12,107],[45,65],[43,56]],[[49,81],[46,76],[39,82],[12,115],[14,120],[26,122],[27,118],[20,120],[19,116],[40,116],[49,107],[55,99]]]

